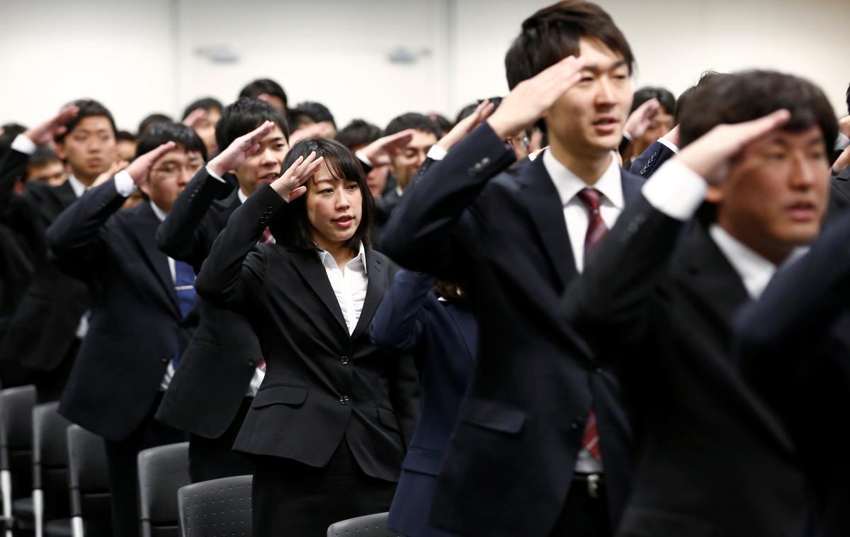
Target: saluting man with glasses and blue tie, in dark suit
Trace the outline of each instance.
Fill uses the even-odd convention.
[[[190,127],[159,123],[139,138],[137,154],[48,229],[58,263],[93,290],[90,329],[59,413],[105,439],[117,535],[139,532],[139,451],[184,438],[154,413],[197,320],[195,274],[162,253],[155,235],[206,146]],[[137,188],[149,201],[119,211]]]

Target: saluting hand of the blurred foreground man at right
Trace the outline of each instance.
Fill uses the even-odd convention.
[[[688,144],[672,160],[694,170],[711,184],[723,182],[732,161],[748,144],[781,128],[791,119],[788,110],[776,110],[749,122],[717,125]]]

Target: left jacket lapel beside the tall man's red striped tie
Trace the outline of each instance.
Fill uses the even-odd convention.
[[[575,258],[567,235],[564,207],[542,158],[524,167],[521,182],[524,188],[519,189],[519,195],[529,209],[561,284],[566,285],[575,276]]]

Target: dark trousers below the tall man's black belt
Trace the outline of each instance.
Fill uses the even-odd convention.
[[[595,495],[588,491],[587,481],[573,479],[552,537],[611,537],[604,483],[599,483]]]

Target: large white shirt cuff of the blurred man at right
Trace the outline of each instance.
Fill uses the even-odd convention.
[[[690,220],[706,199],[708,184],[699,173],[679,161],[666,161],[643,184],[643,197],[660,212],[677,220]]]

